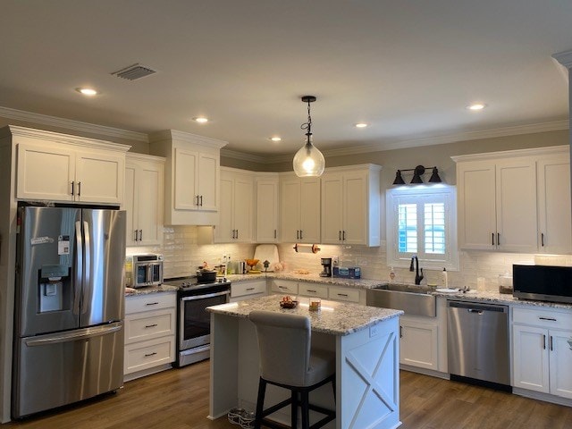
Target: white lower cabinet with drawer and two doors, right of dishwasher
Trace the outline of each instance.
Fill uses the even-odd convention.
[[[513,310],[513,385],[572,399],[572,313]]]

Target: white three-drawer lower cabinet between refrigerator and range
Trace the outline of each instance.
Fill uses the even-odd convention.
[[[125,381],[163,371],[174,362],[176,302],[174,291],[125,298]]]

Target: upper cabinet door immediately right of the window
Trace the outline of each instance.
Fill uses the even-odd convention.
[[[492,250],[497,231],[494,164],[458,164],[457,187],[459,248]]]

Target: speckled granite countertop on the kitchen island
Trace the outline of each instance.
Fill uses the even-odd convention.
[[[221,315],[235,317],[248,317],[253,310],[275,311],[276,313],[289,313],[292,315],[308,315],[312,324],[312,331],[324,332],[333,335],[348,335],[366,329],[374,324],[403,315],[401,310],[391,308],[376,308],[337,302],[322,299],[320,312],[308,311],[308,304],[304,301],[296,308],[286,309],[280,307],[281,295],[270,295],[256,299],[247,299],[240,302],[231,302],[220,306],[207,307],[206,310]]]

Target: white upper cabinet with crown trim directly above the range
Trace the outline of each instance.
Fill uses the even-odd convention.
[[[226,142],[176,130],[151,136],[153,155],[164,156],[164,223],[219,223],[220,149]]]

